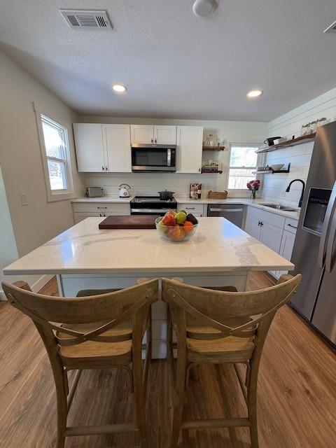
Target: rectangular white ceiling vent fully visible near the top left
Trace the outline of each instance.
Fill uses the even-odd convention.
[[[108,29],[113,28],[106,10],[69,10],[60,9],[70,28]]]

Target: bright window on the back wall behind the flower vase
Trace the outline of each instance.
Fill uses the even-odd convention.
[[[229,168],[229,190],[245,190],[246,183],[255,179],[258,146],[232,145]]]

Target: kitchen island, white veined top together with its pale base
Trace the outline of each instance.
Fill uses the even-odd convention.
[[[245,290],[248,272],[294,265],[224,218],[199,218],[190,241],[169,242],[157,230],[99,230],[86,218],[3,269],[4,274],[55,274],[60,295],[124,288],[139,277],[179,276],[196,286]],[[153,358],[167,355],[167,309],[153,304]]]

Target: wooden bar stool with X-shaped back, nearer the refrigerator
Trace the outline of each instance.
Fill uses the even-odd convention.
[[[179,444],[181,429],[248,426],[251,446],[258,448],[257,380],[262,347],[276,311],[300,286],[302,276],[283,275],[275,286],[249,292],[225,292],[162,279],[162,300],[177,337],[176,388],[170,447]],[[172,340],[169,358],[172,359]],[[174,358],[173,358],[174,360]],[[174,362],[174,361],[173,361]],[[190,367],[202,363],[235,366],[248,416],[235,419],[184,420],[183,400]],[[243,378],[238,364],[246,365]]]

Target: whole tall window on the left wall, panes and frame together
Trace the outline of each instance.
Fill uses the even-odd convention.
[[[69,199],[73,188],[68,131],[42,114],[38,117],[48,200]]]

